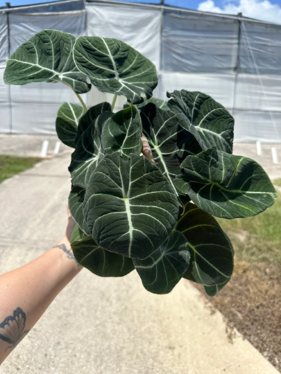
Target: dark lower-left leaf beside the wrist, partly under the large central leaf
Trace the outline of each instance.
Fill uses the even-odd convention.
[[[97,276],[126,276],[135,269],[131,258],[105,251],[77,225],[71,235],[71,248],[77,262]]]

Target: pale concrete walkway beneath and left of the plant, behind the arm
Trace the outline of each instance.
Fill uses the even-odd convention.
[[[0,184],[0,273],[40,256],[65,232],[70,153]],[[23,290],[24,291],[24,290]],[[0,368],[1,374],[276,374],[219,312],[182,280],[150,294],[136,271],[87,269],[63,290]]]

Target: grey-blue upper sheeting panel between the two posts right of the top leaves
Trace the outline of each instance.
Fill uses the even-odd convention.
[[[237,19],[164,11],[162,70],[230,73],[237,62]]]

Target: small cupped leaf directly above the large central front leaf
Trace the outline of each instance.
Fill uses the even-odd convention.
[[[103,126],[101,143],[106,154],[119,152],[124,160],[142,151],[142,121],[133,106],[114,114]]]

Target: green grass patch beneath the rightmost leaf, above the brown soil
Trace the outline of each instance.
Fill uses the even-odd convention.
[[[237,260],[281,265],[281,197],[255,217],[217,220],[230,237]]]

